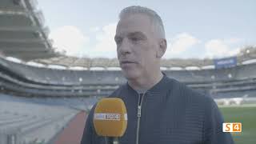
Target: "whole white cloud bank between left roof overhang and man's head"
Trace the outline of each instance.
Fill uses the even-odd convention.
[[[58,51],[65,50],[69,56],[115,58],[116,26],[117,22],[102,27],[91,27],[90,38],[75,26],[62,26],[52,30],[49,37],[54,40],[54,47]]]

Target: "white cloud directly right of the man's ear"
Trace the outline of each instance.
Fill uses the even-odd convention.
[[[170,42],[168,42],[170,45],[167,47],[164,58],[178,57],[178,55],[182,54],[198,43],[200,43],[200,40],[191,34],[177,34],[170,40]]]

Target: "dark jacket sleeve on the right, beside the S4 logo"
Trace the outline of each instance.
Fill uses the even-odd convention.
[[[222,123],[224,119],[217,104],[209,97],[206,102],[206,114],[204,122],[204,144],[234,144],[230,133],[222,132]]]

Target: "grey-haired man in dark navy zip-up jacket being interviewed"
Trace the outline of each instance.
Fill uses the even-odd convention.
[[[223,118],[209,96],[194,90],[160,70],[166,51],[161,18],[146,7],[129,6],[122,10],[114,38],[118,61],[127,83],[112,97],[126,104],[128,125],[121,144],[232,144],[222,133]],[[82,144],[101,144],[95,134],[94,107],[86,121]]]

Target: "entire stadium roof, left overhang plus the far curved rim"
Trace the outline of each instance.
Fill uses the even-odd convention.
[[[91,67],[119,67],[117,58],[76,58],[56,52],[48,38],[42,12],[35,0],[0,0],[0,55],[45,65]],[[238,64],[256,59],[256,46],[246,46],[237,55]],[[38,64],[37,64],[38,65]],[[163,59],[162,67],[210,67],[212,59]],[[191,67],[195,66],[195,67]]]

